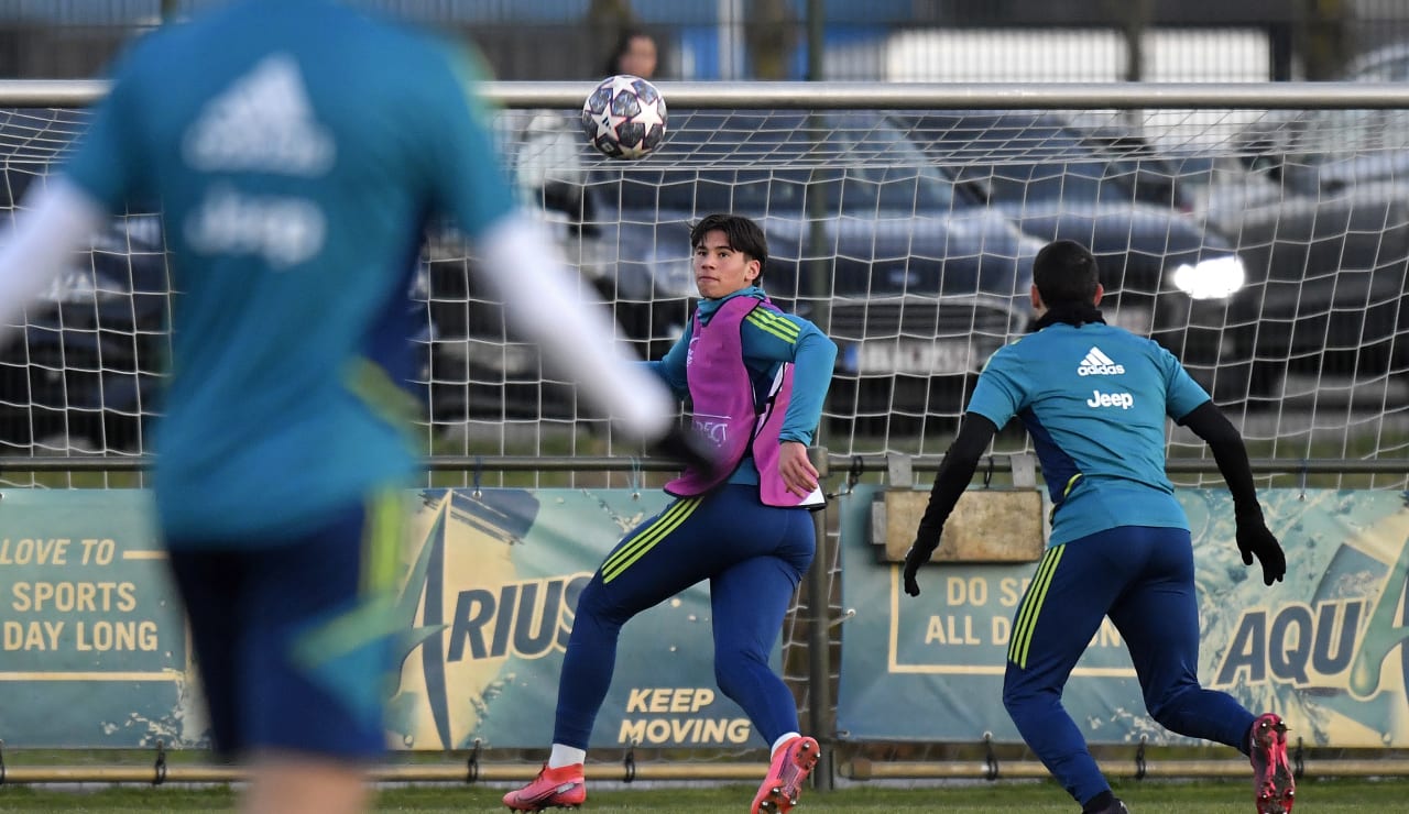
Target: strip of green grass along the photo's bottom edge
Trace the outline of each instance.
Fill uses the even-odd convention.
[[[420,811],[464,814],[503,811],[503,787],[402,787],[382,791],[378,811]],[[750,786],[652,787],[593,790],[583,814],[627,811],[671,811],[703,814],[744,811],[752,799]],[[1248,783],[1209,782],[1124,782],[1116,793],[1134,814],[1247,814],[1253,810]],[[1298,789],[1298,811],[1350,814],[1402,811],[1409,780],[1324,780],[1308,779]],[[0,811],[103,811],[142,814],[186,814],[234,811],[228,789],[124,787],[59,791],[42,787],[0,787]],[[809,791],[797,814],[861,814],[872,811],[957,811],[964,814],[1065,813],[1076,806],[1048,782],[968,784],[964,787],[850,787]]]

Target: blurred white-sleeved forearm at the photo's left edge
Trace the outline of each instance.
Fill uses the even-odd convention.
[[[24,207],[0,237],[0,335],[103,225],[103,207],[62,177],[27,196]]]

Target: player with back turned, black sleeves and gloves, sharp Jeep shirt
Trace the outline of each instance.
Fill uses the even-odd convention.
[[[1071,241],[1033,265],[1037,331],[999,349],[979,375],[958,437],[905,558],[905,591],[940,545],[944,521],[993,435],[1023,421],[1053,501],[1051,538],[1013,617],[1003,706],[1023,739],[1086,814],[1124,804],[1061,706],[1062,687],[1106,615],[1134,662],[1146,707],[1165,728],[1248,755],[1257,810],[1289,811],[1286,727],[1199,686],[1199,608],[1188,520],[1165,477],[1165,417],[1203,438],[1233,493],[1237,548],[1271,586],[1286,572],[1262,520],[1239,431],[1155,342],[1107,327],[1096,259]]]

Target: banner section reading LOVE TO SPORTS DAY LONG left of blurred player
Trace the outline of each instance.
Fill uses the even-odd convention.
[[[200,738],[186,620],[145,491],[0,491],[0,738]],[[192,731],[192,730],[196,731]]]

